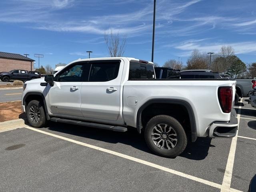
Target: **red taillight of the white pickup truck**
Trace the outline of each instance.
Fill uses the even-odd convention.
[[[224,113],[230,113],[232,108],[233,91],[232,87],[219,87],[218,98],[220,107]]]

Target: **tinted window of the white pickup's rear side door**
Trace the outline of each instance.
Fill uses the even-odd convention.
[[[118,76],[119,62],[104,62],[104,63],[93,63],[89,81],[90,82],[104,82],[111,81]]]

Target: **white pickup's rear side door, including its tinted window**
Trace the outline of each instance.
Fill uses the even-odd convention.
[[[123,60],[90,61],[88,82],[82,83],[81,111],[88,120],[116,121],[120,114]]]

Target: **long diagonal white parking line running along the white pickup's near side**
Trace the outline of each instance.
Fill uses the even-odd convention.
[[[40,133],[43,133],[43,134],[46,134],[46,135],[49,135],[49,136],[53,136],[53,137],[56,137],[56,138],[59,138],[59,139],[62,139],[62,140],[66,140],[66,141],[69,141],[69,142],[72,142],[72,143],[76,143],[76,144],[79,144],[79,145],[82,145],[82,146],[86,146],[86,147],[89,147],[89,148],[92,148],[92,149],[95,149],[95,150],[106,152],[106,153],[109,153],[109,154],[112,154],[112,155],[115,155],[115,156],[119,156],[119,157],[122,157],[122,158],[125,158],[125,159],[128,159],[128,160],[132,160],[134,162],[138,162],[138,163],[150,166],[150,167],[154,167],[154,168],[157,168],[159,170],[163,170],[163,171],[166,171],[166,172],[169,172],[169,173],[172,173],[172,174],[184,177],[184,178],[188,178],[190,180],[197,181],[197,182],[200,182],[200,183],[203,183],[203,184],[215,187],[215,188],[219,188],[219,189],[221,188],[221,185],[218,184],[218,183],[214,183],[214,182],[204,180],[204,179],[192,176],[192,175],[188,175],[188,174],[176,171],[176,170],[172,170],[170,168],[166,168],[166,167],[154,164],[154,163],[150,163],[150,162],[147,162],[147,161],[144,161],[144,160],[132,157],[132,156],[128,156],[128,155],[125,155],[125,154],[122,154],[122,153],[118,153],[118,152],[108,150],[108,149],[104,149],[104,148],[101,148],[101,147],[97,147],[97,146],[94,146],[94,145],[86,144],[86,143],[76,141],[76,140],[73,140],[73,139],[70,139],[70,138],[66,138],[66,137],[63,137],[63,136],[59,136],[59,135],[56,135],[56,134],[52,134],[52,133],[49,133],[49,132],[38,130],[38,129],[29,127],[29,126],[27,126],[25,128],[28,128],[30,130],[40,132]],[[230,188],[229,191],[230,192],[241,192],[241,191],[233,189],[233,188]]]

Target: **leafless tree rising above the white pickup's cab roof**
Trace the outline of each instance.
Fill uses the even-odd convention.
[[[122,41],[119,37],[119,33],[114,33],[111,30],[104,31],[104,39],[108,48],[110,57],[121,57],[124,54],[127,43],[127,36],[122,37]]]

